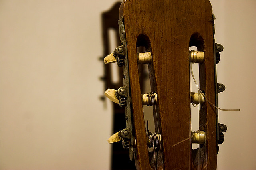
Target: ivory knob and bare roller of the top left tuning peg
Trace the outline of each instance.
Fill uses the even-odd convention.
[[[150,52],[137,53],[138,64],[148,64],[151,63],[152,55]],[[114,57],[113,53],[109,54],[104,58],[105,64],[115,63],[117,59]]]

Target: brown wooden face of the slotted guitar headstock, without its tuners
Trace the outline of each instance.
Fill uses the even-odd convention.
[[[119,11],[124,17],[137,169],[151,169],[148,159],[141,89],[137,66],[137,38],[148,40],[152,54],[149,64],[151,90],[157,93],[156,111],[162,136],[165,169],[193,169],[197,150],[191,150],[190,140],[177,144],[191,135],[189,46],[204,51],[200,64],[200,87],[214,103],[214,57],[212,8],[208,0],[125,0]],[[196,33],[196,34],[195,34]],[[194,34],[194,36],[192,36]],[[192,38],[191,38],[192,36]],[[144,41],[144,40],[143,40]],[[137,44],[136,44],[137,43]],[[142,44],[143,45],[143,44]],[[200,168],[216,169],[215,110],[204,103],[201,130],[207,134],[207,155]],[[204,120],[203,120],[204,119]],[[177,144],[177,145],[175,145]],[[173,146],[175,145],[175,146]],[[207,158],[207,160],[206,160]],[[161,166],[158,168],[162,168]]]

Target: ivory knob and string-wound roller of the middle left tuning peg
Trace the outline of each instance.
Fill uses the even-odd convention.
[[[107,89],[104,93],[104,95],[109,98],[111,101],[119,104],[119,100],[117,98],[117,96],[115,95],[116,93],[115,89]],[[152,93],[152,94],[141,94],[141,100],[142,100],[142,105],[153,105],[153,98],[152,96],[155,97],[155,102],[157,102],[157,94],[156,93]]]

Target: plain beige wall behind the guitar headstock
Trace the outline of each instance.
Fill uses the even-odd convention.
[[[0,0],[0,169],[109,169],[111,107],[101,12],[116,0]],[[218,169],[256,169],[256,1],[211,0],[219,106]]]

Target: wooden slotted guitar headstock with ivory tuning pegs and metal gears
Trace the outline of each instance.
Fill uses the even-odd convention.
[[[227,127],[218,121],[218,93],[225,86],[217,83],[216,64],[223,46],[215,43],[210,2],[125,0],[118,24],[121,45],[104,62],[123,69],[123,87],[107,89],[105,95],[125,108],[126,128],[109,143],[121,140],[137,169],[216,169]],[[199,65],[199,85],[193,63]],[[141,93],[138,65],[148,65],[149,93]],[[191,83],[198,92],[191,91]],[[143,105],[153,107],[153,133],[145,126]],[[191,105],[199,110],[196,132]]]

